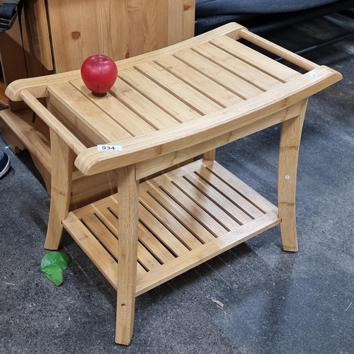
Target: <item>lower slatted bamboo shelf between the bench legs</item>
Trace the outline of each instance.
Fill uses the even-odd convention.
[[[117,200],[112,195],[81,207],[63,222],[115,288]],[[279,223],[275,205],[215,161],[198,160],[141,183],[136,295]]]

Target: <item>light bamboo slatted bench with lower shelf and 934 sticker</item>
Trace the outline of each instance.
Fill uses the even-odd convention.
[[[304,73],[239,38],[283,52]],[[297,251],[296,172],[307,98],[341,74],[236,24],[117,65],[120,75],[103,98],[86,89],[78,72],[18,81],[8,93],[47,122],[52,149],[66,145],[52,161],[60,171],[52,178],[53,237],[59,240],[62,219],[118,291],[115,341],[127,345],[137,295],[276,224],[283,249]],[[35,97],[46,97],[47,108]],[[277,207],[214,159],[217,147],[278,123]],[[101,143],[121,151],[98,151]],[[203,159],[162,173],[199,154]],[[83,178],[118,173],[118,194],[69,212],[74,166]]]

